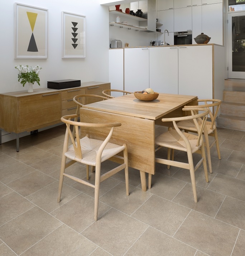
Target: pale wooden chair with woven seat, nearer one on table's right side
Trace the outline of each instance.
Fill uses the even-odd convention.
[[[173,122],[175,129],[169,129],[168,132],[160,134],[155,138],[155,151],[159,150],[161,147],[168,148],[168,159],[161,159],[155,157],[155,162],[160,164],[166,164],[171,166],[177,166],[179,168],[189,169],[191,174],[191,183],[192,190],[194,195],[194,201],[197,203],[197,192],[196,192],[196,181],[194,172],[197,168],[203,163],[204,173],[206,182],[208,182],[207,174],[207,163],[205,156],[205,148],[202,140],[202,131],[205,127],[205,122],[209,113],[208,109],[205,108],[183,108],[184,111],[191,111],[191,115],[176,117],[176,118],[163,118],[162,122]],[[202,113],[197,114],[197,111],[200,110]],[[182,132],[177,126],[178,121],[182,120],[193,120],[194,124],[197,127],[198,135]],[[201,122],[201,125],[199,125]],[[188,163],[182,163],[178,161],[170,160],[170,149],[177,149],[187,152]],[[201,149],[202,159],[194,167],[192,154]],[[152,174],[149,174],[148,188],[151,187],[152,183]]]

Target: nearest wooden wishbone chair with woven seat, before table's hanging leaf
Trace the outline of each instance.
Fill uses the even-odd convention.
[[[124,144],[123,146],[119,146],[113,143],[110,143],[109,140],[112,136],[114,127],[121,126],[121,123],[81,123],[75,122],[71,119],[76,118],[77,115],[67,115],[61,118],[61,121],[66,123],[66,135],[64,138],[64,146],[63,146],[63,153],[62,153],[62,160],[61,160],[61,172],[59,177],[59,189],[58,189],[58,202],[61,201],[61,191],[64,176],[75,180],[76,182],[80,182],[87,186],[95,188],[95,210],[94,210],[94,219],[97,220],[98,218],[98,205],[99,205],[99,190],[100,190],[100,182],[109,178],[111,175],[119,172],[122,169],[125,169],[125,182],[126,182],[126,195],[129,195],[129,176],[128,176],[128,151],[127,145]],[[72,131],[70,129],[70,125],[75,127],[76,131],[76,138],[79,138],[78,134],[78,127],[82,129],[82,127],[93,127],[93,128],[101,128],[103,131],[107,128],[108,129],[108,136],[105,138],[104,141],[95,140],[90,138],[87,134],[85,137],[81,138],[79,142],[77,139],[74,140]],[[72,141],[72,145],[68,146],[69,137]],[[78,142],[78,143],[77,143]],[[100,167],[101,163],[105,160],[108,160],[110,157],[114,156],[117,158],[122,159],[121,156],[117,156],[119,152],[123,151],[123,159],[124,163],[117,166],[116,168],[109,170],[108,172],[101,175]],[[66,159],[69,158],[70,160],[66,162]],[[89,179],[89,166],[95,166],[95,185],[69,175],[65,173],[65,169],[72,164],[80,162],[82,164],[86,164],[87,166],[87,180]]]

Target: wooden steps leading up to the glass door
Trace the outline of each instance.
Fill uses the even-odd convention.
[[[245,79],[225,80],[217,127],[245,131]]]

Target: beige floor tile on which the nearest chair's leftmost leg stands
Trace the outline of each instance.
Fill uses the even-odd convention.
[[[61,202],[58,203],[58,185],[59,182],[56,181],[37,192],[32,193],[26,198],[44,211],[51,212],[81,193],[76,189],[63,184]]]

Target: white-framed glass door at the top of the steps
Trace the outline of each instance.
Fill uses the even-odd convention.
[[[245,12],[228,13],[228,78],[245,79]]]

